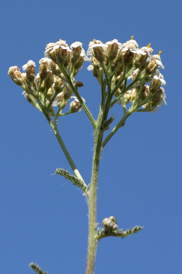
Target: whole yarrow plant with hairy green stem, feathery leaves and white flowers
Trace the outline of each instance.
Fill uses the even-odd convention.
[[[106,42],[93,39],[85,53],[82,43],[75,42],[69,47],[66,41],[59,40],[45,47],[45,57],[39,61],[39,73],[35,76],[35,63],[29,60],[22,66],[21,73],[17,66],[9,68],[8,75],[23,89],[27,101],[41,111],[49,122],[74,173],[62,168],[56,169],[59,174],[77,187],[81,188],[88,202],[89,236],[86,274],[94,273],[97,244],[100,239],[108,236],[124,238],[142,229],[140,226],[123,231],[118,229],[116,218],[104,218],[103,227],[97,227],[96,201],[99,162],[101,153],[111,137],[125,125],[126,119],[133,112],[156,112],[158,107],[166,104],[166,85],[159,68],[164,69],[159,54],[152,55],[150,44],[139,48],[133,36],[131,40],[121,44],[118,40]],[[89,56],[89,57],[88,57]],[[75,77],[82,68],[83,62],[91,64],[88,70],[93,72],[101,86],[101,102],[97,120],[95,120],[80,96],[79,88],[82,81]],[[68,111],[64,112],[70,103]],[[123,117],[104,137],[104,133],[112,127],[114,117],[109,111],[116,104],[123,108]],[[60,116],[84,110],[92,123],[94,131],[94,149],[92,177],[86,183],[76,168],[57,128]],[[43,272],[34,263],[30,267],[37,273]]]

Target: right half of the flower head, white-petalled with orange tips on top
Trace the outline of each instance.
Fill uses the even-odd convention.
[[[156,55],[152,55],[152,52],[150,44],[139,48],[133,36],[123,44],[116,39],[105,44],[94,39],[87,51],[91,55],[89,61],[92,62],[88,70],[93,71],[93,76],[99,82],[103,72],[108,74],[114,95],[121,104],[131,102],[136,105],[137,102],[137,111],[156,112],[157,107],[163,106],[163,102],[166,104],[166,94],[161,87],[166,82],[158,70],[159,67],[164,69],[160,59],[161,51]],[[130,83],[128,86],[127,81]],[[145,85],[149,82],[150,86]]]

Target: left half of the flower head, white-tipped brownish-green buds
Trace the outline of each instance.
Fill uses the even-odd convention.
[[[50,58],[49,58],[50,57]],[[39,61],[39,73],[35,75],[35,63],[29,60],[22,66],[21,73],[17,66],[10,67],[8,75],[24,90],[25,98],[29,103],[41,110],[40,102],[52,116],[75,113],[81,110],[81,104],[76,96],[72,96],[83,82],[75,81],[74,76],[82,68],[83,61],[89,60],[80,42],[73,43],[70,48],[66,41],[59,40],[49,43],[45,48],[45,57]],[[62,113],[68,100],[69,111]],[[82,101],[85,100],[82,98]],[[59,107],[55,113],[54,107]]]

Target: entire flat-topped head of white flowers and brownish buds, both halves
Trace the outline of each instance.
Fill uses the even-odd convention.
[[[158,70],[159,67],[164,69],[161,52],[156,55],[152,52],[150,44],[139,48],[133,37],[123,44],[116,39],[105,44],[93,39],[87,53],[81,42],[74,42],[69,47],[66,41],[59,40],[45,47],[45,57],[39,61],[36,76],[32,60],[22,66],[26,73],[21,73],[14,66],[9,68],[8,74],[23,88],[23,94],[31,104],[41,110],[39,104],[42,102],[49,114],[57,119],[58,116],[80,111],[85,104],[78,93],[78,87],[83,86],[83,82],[76,82],[75,76],[83,62],[89,61],[88,70],[93,71],[93,76],[103,87],[102,99],[108,93],[111,95],[111,107],[119,102],[125,111],[126,104],[130,103],[135,106],[135,111],[156,112],[163,102],[166,104],[166,94],[161,87],[166,82]],[[74,100],[69,111],[62,113],[71,98]],[[55,106],[59,107],[57,113]]]

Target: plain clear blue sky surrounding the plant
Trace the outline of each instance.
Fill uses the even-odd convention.
[[[88,209],[82,192],[51,175],[70,170],[45,117],[22,96],[8,68],[37,64],[49,42],[93,38],[161,50],[167,106],[156,114],[134,113],[105,147],[98,185],[98,223],[115,216],[119,228],[144,226],[125,239],[98,244],[95,273],[181,273],[181,2],[8,1],[1,9],[1,273],[85,273]],[[85,44],[85,45],[84,45]],[[94,118],[99,84],[83,65],[77,80]],[[119,105],[112,109],[116,121]],[[63,140],[87,183],[93,135],[84,111],[59,119]],[[71,170],[70,170],[71,171]]]

